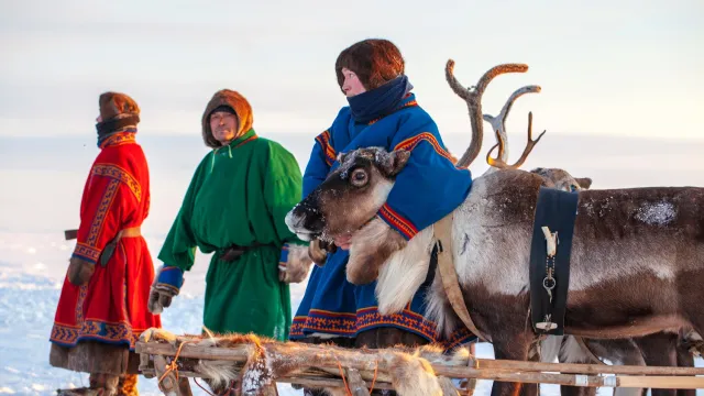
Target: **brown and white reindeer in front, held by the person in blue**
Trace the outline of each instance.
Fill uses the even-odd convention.
[[[494,67],[471,89],[460,85],[453,67],[454,62],[449,61],[448,81],[468,102],[472,142],[480,142],[481,98],[486,86],[501,74],[525,72],[527,66]],[[497,139],[501,158],[504,147],[501,136]],[[535,143],[529,139],[521,158]],[[457,166],[466,166],[477,155],[476,145],[470,145]],[[487,160],[503,170],[476,178],[465,201],[448,217],[452,235],[449,253],[480,336],[493,343],[496,359],[525,361],[538,339],[526,323],[534,211],[539,190],[548,183],[536,173],[519,170],[516,164],[490,155]],[[414,283],[399,288],[398,274],[425,278],[437,243],[439,223],[406,242],[375,217],[408,157],[408,152],[378,147],[341,153],[338,169],[286,218],[289,229],[304,240],[329,240],[358,230],[351,241],[346,277],[356,285],[377,280],[383,315],[403,309],[417,292]],[[623,339],[692,327],[701,334],[704,188],[644,187],[578,194],[565,333]],[[389,289],[396,293],[385,292]],[[428,316],[447,332],[460,326],[437,276],[429,293]],[[495,383],[493,394],[513,395],[521,386],[528,393],[537,392],[532,385]]]

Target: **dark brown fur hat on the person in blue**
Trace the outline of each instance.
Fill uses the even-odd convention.
[[[354,72],[364,88],[378,88],[404,74],[405,62],[394,43],[383,38],[367,38],[344,48],[334,63],[338,85],[342,88],[342,68]]]

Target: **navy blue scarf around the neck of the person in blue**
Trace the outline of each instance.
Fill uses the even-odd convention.
[[[366,123],[391,114],[413,88],[408,77],[402,75],[378,88],[348,98],[354,121]]]

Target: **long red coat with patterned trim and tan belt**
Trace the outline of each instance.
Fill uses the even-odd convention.
[[[150,175],[134,133],[119,133],[102,145],[80,204],[80,227],[73,255],[96,263],[88,284],[64,279],[51,341],[74,346],[80,340],[122,343],[134,349],[142,331],[161,327],[148,312],[154,266],[144,238],[122,238],[110,261],[100,264],[106,244],[120,230],[140,227],[150,210]]]

